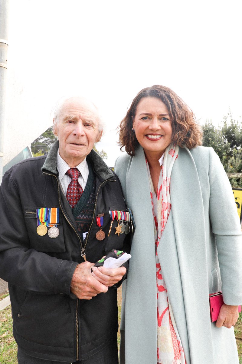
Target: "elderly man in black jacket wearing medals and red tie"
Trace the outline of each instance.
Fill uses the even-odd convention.
[[[126,205],[93,150],[99,121],[93,103],[65,99],[47,157],[13,166],[1,184],[0,277],[9,282],[19,364],[118,363],[116,288],[126,268],[93,265],[125,249],[110,211]]]

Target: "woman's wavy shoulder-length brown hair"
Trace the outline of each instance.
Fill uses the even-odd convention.
[[[169,87],[154,85],[143,88],[135,96],[126,116],[121,121],[118,129],[120,150],[125,147],[129,155],[135,155],[139,142],[132,131],[133,118],[140,100],[144,97],[155,97],[167,106],[172,123],[172,141],[188,149],[202,144],[201,127],[188,105]]]

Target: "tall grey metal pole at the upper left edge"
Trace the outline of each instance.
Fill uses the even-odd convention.
[[[3,175],[3,133],[8,53],[8,0],[0,0],[0,183]]]

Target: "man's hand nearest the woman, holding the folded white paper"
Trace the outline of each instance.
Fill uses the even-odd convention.
[[[126,273],[126,268],[104,268],[104,267],[93,267],[91,273],[100,283],[107,287],[111,287],[118,283]]]

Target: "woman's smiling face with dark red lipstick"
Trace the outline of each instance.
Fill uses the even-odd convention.
[[[133,128],[145,155],[161,155],[171,144],[172,124],[164,102],[145,97],[138,103]]]

